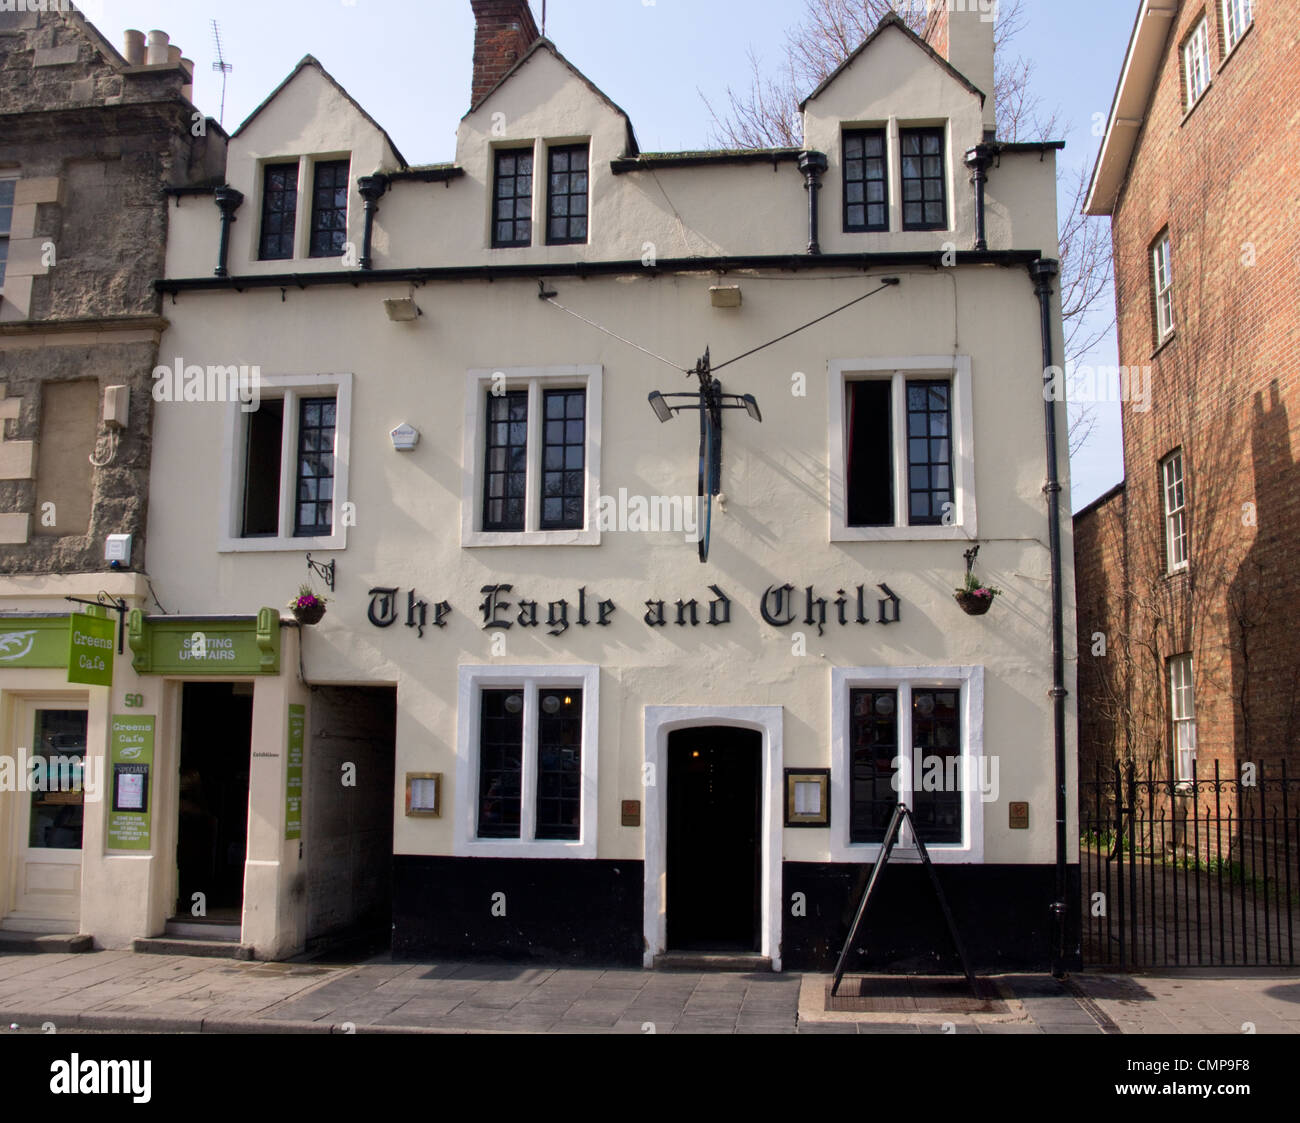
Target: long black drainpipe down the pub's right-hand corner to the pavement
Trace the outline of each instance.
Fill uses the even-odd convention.
[[[1043,333],[1043,385],[1052,382],[1052,281],[1061,272],[1060,263],[1044,257],[1030,265],[1034,292],[1039,298],[1040,330]],[[1056,919],[1056,948],[1052,955],[1052,974],[1057,979],[1066,975],[1065,944],[1067,915],[1066,885],[1066,767],[1065,767],[1065,608],[1061,591],[1061,482],[1057,476],[1056,395],[1043,395],[1043,417],[1046,428],[1048,481],[1043,486],[1048,497],[1048,549],[1052,554],[1052,725],[1056,756],[1056,901],[1052,914]]]

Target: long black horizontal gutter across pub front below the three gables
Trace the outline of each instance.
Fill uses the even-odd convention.
[[[329,285],[407,285],[426,281],[534,281],[540,277],[611,277],[646,273],[733,273],[745,269],[948,269],[957,265],[1030,266],[1037,250],[988,250],[948,255],[942,250],[915,253],[763,253],[741,257],[660,257],[654,265],[630,261],[567,261],[536,265],[443,265],[419,269],[334,269],[329,273],[264,273],[242,277],[176,277],[153,282],[157,292],[229,291],[246,289],[317,289]],[[956,263],[954,263],[956,257]]]

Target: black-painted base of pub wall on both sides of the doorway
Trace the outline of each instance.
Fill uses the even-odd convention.
[[[976,970],[1045,971],[1052,962],[1052,866],[940,866],[939,879]],[[870,866],[786,862],[783,966],[829,971]],[[393,954],[640,966],[642,863],[529,858],[393,859]],[[504,894],[504,916],[494,915]],[[796,905],[793,894],[802,893]],[[1079,867],[1070,867],[1067,966],[1079,966]],[[802,911],[805,915],[796,915]],[[853,971],[956,970],[930,879],[890,863]]]

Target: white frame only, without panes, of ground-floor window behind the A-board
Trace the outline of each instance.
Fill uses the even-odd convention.
[[[959,691],[962,756],[972,764],[963,769],[975,782],[962,793],[962,841],[933,842],[926,846],[936,863],[984,860],[984,803],[979,792],[979,764],[984,755],[984,668],[972,667],[833,667],[831,669],[831,860],[867,862],[879,859],[879,842],[850,842],[853,805],[853,751],[849,743],[852,715],[849,691],[884,689],[898,691],[898,799],[911,806],[913,751],[911,691],[914,688]],[[904,825],[893,855],[901,860],[920,860],[911,831]]]

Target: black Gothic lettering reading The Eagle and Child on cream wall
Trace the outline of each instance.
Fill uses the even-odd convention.
[[[826,633],[829,624],[841,628],[863,624],[898,624],[902,619],[902,600],[884,582],[875,587],[880,595],[868,593],[866,585],[853,586],[852,593],[835,589],[833,595],[819,595],[815,585],[806,585],[801,591],[790,584],[768,585],[758,598],[758,612],[764,624],[772,628],[788,628],[792,624],[806,624],[816,628],[818,636]],[[571,626],[604,628],[610,624],[618,606],[588,593],[585,585],[572,599],[562,597],[558,600],[541,600],[523,595],[514,585],[484,585],[478,590],[484,599],[478,604],[480,626],[485,632],[506,632],[511,628],[545,628],[547,636],[563,636]],[[732,623],[732,600],[718,586],[710,585],[711,597],[697,599],[663,599],[650,597],[644,602],[642,620],[650,628],[716,628]],[[395,585],[380,585],[369,590],[370,604],[367,616],[376,628],[391,628],[402,616],[402,590]],[[802,608],[802,616],[800,610]],[[451,603],[438,600],[432,604],[419,597],[413,589],[406,595],[406,626],[415,628],[422,638],[428,625],[446,628],[451,615]]]

